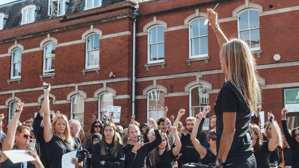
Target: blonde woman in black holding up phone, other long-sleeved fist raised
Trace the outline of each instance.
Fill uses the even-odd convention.
[[[128,135],[131,138],[130,144],[123,147],[125,153],[125,167],[126,168],[143,168],[151,166],[148,162],[149,152],[159,146],[162,142],[161,134],[158,130],[157,124],[153,118],[148,119],[149,124],[153,127],[156,139],[149,143],[143,143],[142,139],[137,140],[140,135],[140,130],[137,125],[131,125],[128,128]]]

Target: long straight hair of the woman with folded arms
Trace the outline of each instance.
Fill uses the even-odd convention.
[[[114,155],[115,157],[117,156],[117,153],[119,152],[120,150],[120,147],[119,147],[119,144],[116,140],[116,127],[114,124],[112,124],[111,122],[108,122],[107,124],[105,124],[104,128],[103,128],[103,136],[102,136],[102,140],[101,140],[101,155],[108,155],[108,152],[107,152],[107,145],[106,145],[106,137],[104,135],[104,130],[107,126],[110,126],[113,128],[113,131],[114,131],[114,135],[112,137],[112,142],[113,142],[113,147],[110,149],[111,151],[111,154]]]

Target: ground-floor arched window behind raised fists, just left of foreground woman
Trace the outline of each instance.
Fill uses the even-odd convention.
[[[203,86],[196,86],[190,89],[190,112],[191,116],[195,117],[196,114],[202,111],[202,109],[209,105],[209,93],[207,92],[209,88]],[[208,116],[206,116],[208,117]],[[204,129],[209,129],[209,120],[204,123]]]

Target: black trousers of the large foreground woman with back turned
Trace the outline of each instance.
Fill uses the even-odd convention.
[[[245,154],[227,158],[225,164],[225,168],[256,168],[255,157],[252,153],[251,155]]]

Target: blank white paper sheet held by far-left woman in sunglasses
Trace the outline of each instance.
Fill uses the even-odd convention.
[[[34,161],[35,159],[25,153],[24,150],[11,150],[11,151],[3,151],[5,155],[13,162],[13,163],[19,163],[19,162],[27,162],[27,161]]]

